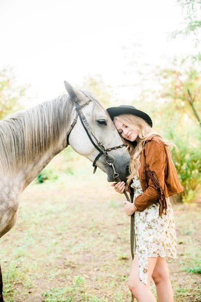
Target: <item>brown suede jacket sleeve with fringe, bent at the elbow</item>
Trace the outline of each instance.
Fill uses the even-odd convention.
[[[164,193],[166,154],[163,147],[155,140],[148,141],[144,147],[145,176],[147,189],[135,199],[139,211],[145,210],[153,202],[159,201],[159,214],[166,213],[167,204]]]

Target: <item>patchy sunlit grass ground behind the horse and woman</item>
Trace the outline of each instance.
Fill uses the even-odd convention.
[[[88,161],[73,175],[23,193],[1,240],[6,302],[128,302],[130,218],[124,196]],[[168,259],[175,302],[200,301],[200,204],[173,205],[177,259]],[[155,286],[151,283],[156,295]]]

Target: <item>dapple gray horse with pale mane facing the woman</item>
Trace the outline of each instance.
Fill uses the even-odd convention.
[[[99,154],[97,141],[106,148],[123,144],[107,111],[93,94],[76,90],[67,82],[65,87],[68,95],[19,111],[0,121],[0,238],[16,223],[22,192],[52,158],[67,147],[69,129],[72,128],[69,144],[91,162]],[[97,138],[95,140],[92,136],[93,143],[81,119],[77,119],[74,127],[70,126],[76,116],[76,104],[83,106],[85,120]],[[112,148],[110,154],[115,157],[116,172],[125,181],[130,162],[126,148]],[[114,171],[107,165],[104,155],[97,159],[96,165],[107,174],[109,182],[115,181]],[[0,302],[4,301],[2,291],[0,266]]]

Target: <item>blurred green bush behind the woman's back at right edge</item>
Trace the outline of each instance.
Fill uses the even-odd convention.
[[[162,134],[177,146],[172,147],[170,152],[183,187],[180,197],[182,201],[194,200],[201,189],[200,128],[190,122],[180,120],[178,123],[175,119],[169,123],[169,127],[165,127]]]

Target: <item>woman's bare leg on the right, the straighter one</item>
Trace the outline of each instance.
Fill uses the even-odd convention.
[[[158,302],[173,302],[173,290],[165,258],[158,257],[152,278],[156,284]]]

